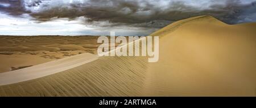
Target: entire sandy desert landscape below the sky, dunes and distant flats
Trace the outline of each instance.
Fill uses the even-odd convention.
[[[256,96],[255,27],[176,21],[150,34],[155,63],[98,57],[93,36],[1,36],[0,96]]]

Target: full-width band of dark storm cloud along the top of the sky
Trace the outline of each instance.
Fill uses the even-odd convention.
[[[42,1],[34,1],[27,6],[40,6]],[[0,7],[0,10],[11,15],[28,12],[24,9],[21,1],[11,2],[10,7]],[[159,4],[160,2],[162,1],[159,1]],[[72,20],[84,16],[86,18],[85,23],[109,21],[112,23],[110,26],[130,25],[154,28],[164,27],[173,21],[199,15],[212,15],[228,24],[256,20],[255,2],[242,3],[239,0],[226,0],[225,3],[219,4],[216,1],[209,1],[210,6],[203,9],[191,6],[186,1],[169,1],[166,3],[167,7],[164,8],[158,2],[152,3],[152,1],[146,0],[90,0],[83,3],[72,2],[57,5],[46,3],[40,6],[40,10],[33,11],[30,15],[39,21],[48,21],[52,18],[69,18]],[[14,6],[19,9],[13,8]]]

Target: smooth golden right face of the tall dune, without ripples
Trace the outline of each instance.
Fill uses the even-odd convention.
[[[211,16],[200,16],[162,29],[175,31],[156,32],[161,36],[160,58],[148,66],[147,93],[255,96],[255,27],[256,23],[228,25]]]

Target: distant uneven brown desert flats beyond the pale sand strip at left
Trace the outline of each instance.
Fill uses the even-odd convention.
[[[0,73],[72,55],[97,54],[97,36],[0,36]]]

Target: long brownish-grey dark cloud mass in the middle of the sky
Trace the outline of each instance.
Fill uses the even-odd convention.
[[[140,6],[143,4],[143,6]],[[175,10],[184,8],[191,10],[188,12]],[[196,16],[192,10],[196,8],[184,5],[183,2],[170,2],[167,10],[161,10],[148,1],[118,1],[118,0],[92,0],[85,4],[72,3],[71,5],[54,6],[46,8],[44,11],[32,13],[31,16],[40,20],[47,21],[51,18],[74,19],[79,16],[88,18],[86,21],[109,21],[110,23],[131,24],[138,26],[163,27],[163,22],[172,22],[190,16]],[[199,15],[199,14],[198,14]]]

